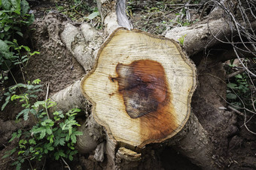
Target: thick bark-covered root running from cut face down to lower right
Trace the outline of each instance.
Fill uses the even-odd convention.
[[[188,157],[192,163],[203,169],[218,169],[215,165],[213,145],[194,113],[190,114],[185,127],[170,141],[177,151]]]

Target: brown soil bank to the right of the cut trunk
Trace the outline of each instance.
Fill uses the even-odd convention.
[[[192,112],[211,136],[215,154],[226,169],[256,168],[256,136],[243,126],[244,118],[227,111],[226,71],[221,62],[201,61],[197,67],[198,87],[192,98]],[[255,118],[248,127],[256,130]]]

